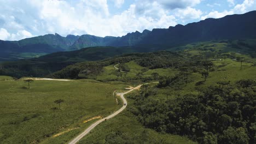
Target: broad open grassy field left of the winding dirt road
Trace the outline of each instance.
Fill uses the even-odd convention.
[[[83,123],[85,120],[119,109],[113,91],[125,87],[76,80],[34,81],[27,89],[21,80],[8,76],[0,76],[0,80],[0,143],[67,142],[96,121]],[[61,110],[54,103],[57,99],[65,100]],[[63,131],[68,132],[53,137]]]

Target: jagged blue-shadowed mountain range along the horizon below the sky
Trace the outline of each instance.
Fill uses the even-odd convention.
[[[228,15],[220,19],[206,19],[188,25],[155,28],[128,33],[123,37],[96,37],[95,35],[46,34],[19,41],[0,40],[0,57],[10,53],[53,53],[73,51],[95,46],[155,46],[172,47],[197,41],[256,38],[256,11],[241,15]],[[0,58],[1,59],[1,58]]]

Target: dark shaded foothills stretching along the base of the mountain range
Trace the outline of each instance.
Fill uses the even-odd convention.
[[[186,50],[199,55],[207,55],[208,57],[219,55],[219,53],[240,53],[247,57],[256,57],[255,39],[244,40],[219,40],[206,41],[199,43],[191,43],[176,47],[156,47],[156,46],[133,46],[133,47],[88,47],[77,51],[56,52],[38,58],[21,60],[16,62],[0,63],[0,75],[10,75],[14,77],[22,76],[47,76],[51,73],[59,71],[68,65],[84,62],[84,61],[101,61],[113,60],[118,57],[126,57],[126,55],[149,56],[148,53],[161,50],[171,52],[184,52]],[[142,52],[142,53],[141,53]],[[128,54],[131,53],[131,54]],[[141,53],[141,54],[139,54]],[[157,53],[157,52],[156,52]],[[113,58],[112,58],[113,57]],[[106,60],[103,60],[106,59]],[[119,63],[118,61],[116,63]],[[159,62],[156,62],[159,63]]]

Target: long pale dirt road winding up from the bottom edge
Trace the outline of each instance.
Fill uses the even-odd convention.
[[[153,82],[153,83],[158,83],[158,82]],[[149,83],[145,83],[144,85],[148,85]],[[79,140],[81,140],[85,135],[87,135],[88,133],[90,133],[90,131],[92,129],[94,129],[98,124],[100,124],[101,122],[105,121],[105,119],[109,119],[109,118],[112,118],[114,116],[117,116],[118,113],[120,113],[121,111],[123,111],[126,106],[127,106],[127,101],[126,99],[124,98],[124,95],[127,94],[127,93],[130,93],[132,92],[133,90],[135,89],[138,89],[140,88],[142,85],[139,85],[135,88],[132,88],[130,91],[127,91],[127,92],[124,92],[124,93],[117,93],[118,95],[120,95],[120,98],[123,100],[123,103],[126,104],[126,105],[123,105],[118,111],[112,113],[111,115],[105,117],[105,118],[102,118],[100,120],[98,120],[97,122],[93,123],[92,125],[90,125],[89,128],[87,128],[83,133],[81,133],[80,135],[78,135],[77,137],[75,137],[75,139],[73,139],[71,142],[69,142],[69,144],[75,144],[77,143]]]

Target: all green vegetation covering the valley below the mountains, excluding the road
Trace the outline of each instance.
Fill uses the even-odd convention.
[[[117,105],[112,93],[124,91],[124,83],[135,86],[159,81],[129,94],[128,110],[100,124],[81,143],[186,143],[188,139],[195,143],[255,143],[253,41],[206,41],[175,50],[130,54],[123,54],[125,48],[94,47],[76,51],[79,54],[53,53],[2,63],[3,75],[73,81],[34,81],[28,91],[21,88],[22,81],[0,76],[0,109],[5,112],[1,113],[0,141],[67,142],[93,122],[83,121],[106,116],[122,105],[120,100]],[[113,53],[106,56],[102,51]],[[88,53],[98,57],[88,58]],[[114,56],[117,53],[122,55]],[[34,130],[38,123],[42,125]],[[27,129],[34,133],[24,134]],[[54,137],[61,132],[65,134]]]

